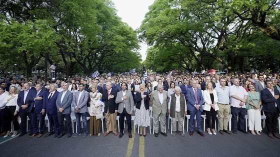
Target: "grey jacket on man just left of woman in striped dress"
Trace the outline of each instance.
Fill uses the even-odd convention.
[[[133,101],[133,96],[132,93],[128,90],[125,91],[125,95],[128,96],[128,99],[126,100],[121,100],[123,94],[122,90],[117,92],[116,98],[115,98],[115,103],[118,104],[118,113],[122,113],[123,111],[123,105],[125,105],[125,111],[129,113],[131,110],[134,110],[134,101]]]

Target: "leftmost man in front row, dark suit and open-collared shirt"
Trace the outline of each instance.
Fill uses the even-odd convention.
[[[32,121],[31,113],[30,113],[30,105],[31,105],[31,99],[33,93],[36,93],[35,90],[29,89],[29,84],[24,83],[23,84],[23,91],[20,91],[18,93],[17,97],[17,105],[19,106],[19,117],[21,120],[20,128],[21,128],[21,134],[18,137],[23,136],[26,134],[26,122],[27,122],[27,116],[29,118],[29,121]],[[30,126],[30,133],[31,136],[33,134],[32,127]]]

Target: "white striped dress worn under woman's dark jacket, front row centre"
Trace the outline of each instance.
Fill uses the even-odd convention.
[[[141,93],[141,96],[143,94]],[[150,126],[150,119],[149,119],[149,111],[146,110],[144,105],[144,99],[141,101],[140,109],[136,108],[135,112],[135,124],[139,127],[147,127]]]

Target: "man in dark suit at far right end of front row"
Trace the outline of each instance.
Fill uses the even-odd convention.
[[[273,82],[271,80],[264,81],[266,88],[260,91],[262,101],[262,111],[266,116],[265,125],[269,138],[280,137],[276,134],[277,119],[280,111],[279,91],[273,89]],[[274,136],[274,137],[273,137]]]

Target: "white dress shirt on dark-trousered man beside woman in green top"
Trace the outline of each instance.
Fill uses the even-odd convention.
[[[241,87],[241,86],[235,86],[232,85],[229,87],[229,96],[231,95],[236,95],[239,98],[243,99],[245,95],[248,95],[248,93],[246,92],[246,90]],[[233,97],[230,97],[230,106],[232,107],[236,107],[236,108],[246,108],[245,105],[240,106],[241,101],[234,99]]]

